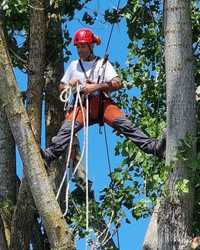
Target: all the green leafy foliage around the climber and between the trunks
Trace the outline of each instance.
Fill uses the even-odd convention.
[[[60,48],[64,48],[65,61],[70,57],[68,45],[71,36],[68,32],[69,22],[75,17],[76,10],[81,10],[89,0],[68,1],[52,0],[45,4],[45,11],[48,23],[47,63],[54,62],[60,58]],[[28,55],[28,31],[29,31],[29,1],[26,0],[4,0],[2,7],[5,11],[5,28],[7,31],[8,46],[14,50],[19,57],[27,60]],[[193,25],[193,48],[195,55],[195,78],[197,85],[200,79],[200,11],[197,1],[192,1],[192,25]],[[85,12],[82,21],[93,25],[97,20],[96,11]],[[130,43],[127,58],[127,67],[121,68],[116,64],[116,68],[123,80],[124,89],[115,93],[115,99],[122,107],[135,126],[139,126],[152,137],[162,135],[165,127],[166,94],[165,94],[165,68],[164,68],[164,37],[163,37],[163,6],[159,0],[128,0],[126,6],[119,12],[106,10],[105,21],[109,23],[120,23],[121,18],[127,22]],[[63,26],[63,34],[55,36],[60,22]],[[21,44],[18,44],[16,37],[22,37]],[[64,38],[64,39],[63,39]],[[57,49],[55,49],[57,48]],[[24,69],[24,64],[16,56],[12,56],[14,66]],[[136,90],[136,91],[134,91]],[[199,106],[200,104],[198,104]],[[198,114],[199,114],[198,107]],[[200,120],[200,119],[199,119]],[[198,126],[199,128],[199,126]],[[199,138],[197,142],[199,143]],[[183,141],[184,147],[181,157],[185,157],[185,149],[189,149],[190,143]],[[200,143],[199,143],[200,145]],[[186,150],[186,151],[187,151]],[[115,153],[123,156],[120,166],[115,167],[111,174],[111,183],[101,192],[99,202],[90,202],[90,211],[93,217],[91,220],[98,221],[102,216],[109,218],[112,216],[113,223],[119,227],[122,219],[130,223],[128,219],[129,211],[133,218],[139,219],[148,216],[156,203],[157,197],[168,190],[164,183],[168,178],[170,168],[164,166],[155,157],[145,155],[133,145],[130,140],[124,139],[118,142]],[[193,176],[199,176],[199,160],[192,162],[190,168]],[[184,158],[185,160],[188,157]],[[195,220],[194,228],[199,229],[199,178],[195,180],[196,192]],[[179,192],[187,192],[188,180],[179,180],[176,184]],[[72,196],[74,204],[70,204],[68,222],[74,229],[74,233],[79,237],[84,237],[85,231],[85,203],[77,194]],[[114,201],[114,202],[113,202]],[[199,216],[199,217],[198,217]],[[93,223],[91,221],[91,223]],[[194,230],[194,231],[195,231]]]

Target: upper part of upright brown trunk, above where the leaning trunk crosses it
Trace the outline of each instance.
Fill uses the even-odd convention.
[[[46,67],[46,18],[44,1],[32,0],[29,32],[27,112],[36,141],[41,140],[42,96]]]

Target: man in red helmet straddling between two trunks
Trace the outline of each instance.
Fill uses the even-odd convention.
[[[73,88],[81,85],[84,107],[86,96],[89,97],[89,125],[106,122],[118,133],[130,138],[147,154],[163,158],[165,139],[160,141],[151,139],[138,128],[134,128],[133,123],[110,98],[110,92],[120,89],[122,82],[106,58],[100,59],[94,55],[95,44],[100,44],[100,39],[90,29],[80,29],[75,33],[74,45],[80,59],[71,62],[61,79],[59,90],[62,91],[66,86]],[[67,111],[58,134],[42,152],[47,165],[58,158],[68,146],[73,117],[75,117],[74,132],[76,133],[83,127],[84,116],[80,106]]]

